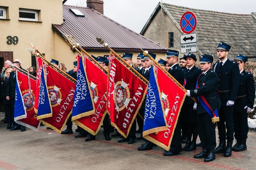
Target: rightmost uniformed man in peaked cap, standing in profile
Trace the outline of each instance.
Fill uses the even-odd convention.
[[[244,70],[247,58],[238,54],[234,61],[237,62],[239,66],[240,82],[233,117],[236,144],[232,147],[232,150],[244,151],[247,149],[246,139],[249,131],[247,117],[254,105],[255,86],[252,74]]]

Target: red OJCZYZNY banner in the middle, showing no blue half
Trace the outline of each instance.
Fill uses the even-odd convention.
[[[111,125],[126,138],[145,98],[147,84],[110,54],[107,85]]]

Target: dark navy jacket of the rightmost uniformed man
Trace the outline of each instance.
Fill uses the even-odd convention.
[[[239,77],[239,90],[234,106],[235,112],[247,111],[245,106],[253,108],[255,99],[255,86],[252,74],[243,70]]]

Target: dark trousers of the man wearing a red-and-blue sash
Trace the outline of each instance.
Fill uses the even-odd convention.
[[[208,113],[197,114],[198,134],[203,147],[213,149],[216,147],[216,123]]]

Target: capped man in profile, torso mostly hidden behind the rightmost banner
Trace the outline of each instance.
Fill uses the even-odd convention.
[[[179,51],[167,50],[166,61],[171,66],[169,73],[181,84],[184,83],[184,73],[178,65]],[[176,127],[174,129],[171,148],[169,151],[163,153],[164,156],[178,155],[181,151],[181,119],[178,118]]]

